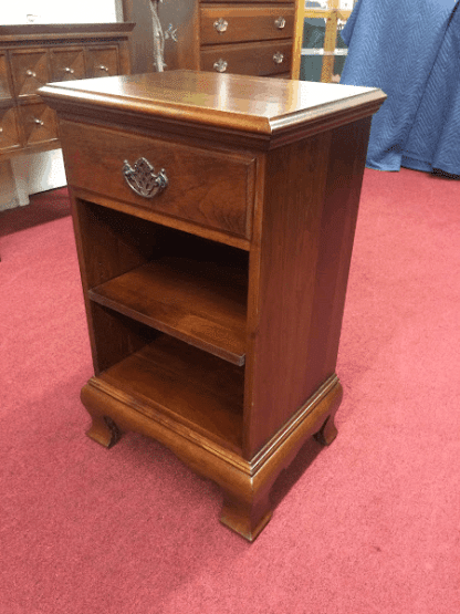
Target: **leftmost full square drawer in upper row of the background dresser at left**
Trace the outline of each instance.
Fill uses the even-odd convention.
[[[11,54],[14,92],[30,96],[50,81],[46,51],[15,51]]]

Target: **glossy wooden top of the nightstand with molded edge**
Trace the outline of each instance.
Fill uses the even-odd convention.
[[[128,111],[144,121],[155,117],[265,138],[313,125],[321,132],[321,124],[331,125],[331,115],[337,115],[339,124],[368,116],[386,97],[374,87],[198,71],[53,83],[40,93],[55,108],[79,107],[80,116],[94,115],[95,110],[100,117],[102,111]]]

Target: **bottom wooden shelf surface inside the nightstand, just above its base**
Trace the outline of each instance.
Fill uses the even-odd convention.
[[[241,452],[244,370],[168,335],[98,376],[148,417],[169,416]]]

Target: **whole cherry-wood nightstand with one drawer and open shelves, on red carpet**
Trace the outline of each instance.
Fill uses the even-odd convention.
[[[222,522],[253,540],[302,445],[336,435],[345,289],[385,95],[196,71],[40,93],[72,195],[88,435],[161,441],[221,486]]]

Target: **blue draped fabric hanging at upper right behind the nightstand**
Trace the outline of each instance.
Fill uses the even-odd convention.
[[[460,175],[460,0],[358,0],[341,83],[381,87],[367,166]]]

